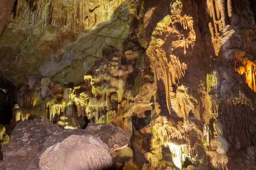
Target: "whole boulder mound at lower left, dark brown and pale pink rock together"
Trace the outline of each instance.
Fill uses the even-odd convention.
[[[1,170],[28,168],[39,170],[46,167],[49,169],[70,169],[70,166],[76,169],[111,167],[110,153],[125,148],[130,140],[130,135],[125,130],[111,124],[90,124],[88,128],[65,130],[52,124],[45,117],[37,121],[19,122],[12,131],[9,144],[2,148],[4,160],[0,168]],[[59,151],[58,154],[61,154],[54,154],[56,150]],[[85,152],[87,157],[84,159],[87,162],[81,158]],[[61,156],[62,159],[58,160],[60,158],[58,156]],[[67,158],[65,158],[66,156]],[[58,160],[58,164],[52,160]],[[71,162],[78,161],[80,163],[77,165],[71,164]],[[69,162],[70,164],[67,164],[69,167],[61,167],[63,166],[61,162]]]

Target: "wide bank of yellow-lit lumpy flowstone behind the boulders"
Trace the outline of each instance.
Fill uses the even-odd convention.
[[[109,56],[97,61],[79,86],[62,85],[41,75],[29,77],[18,94],[19,105],[13,109],[16,122],[47,116],[74,129],[84,125],[85,117],[96,123],[114,122],[132,133],[131,116],[143,118],[145,111],[152,110],[153,77],[148,65],[137,68],[140,58],[147,59],[142,49],[136,49],[138,59],[128,60],[114,47],[108,48]]]

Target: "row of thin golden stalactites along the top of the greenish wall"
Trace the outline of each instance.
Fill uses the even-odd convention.
[[[65,31],[87,31],[99,22],[111,20],[116,7],[122,6],[121,1],[85,1],[73,0],[28,0],[21,4],[18,16],[28,14],[28,23],[39,30],[53,26]],[[95,22],[90,22],[95,20]]]

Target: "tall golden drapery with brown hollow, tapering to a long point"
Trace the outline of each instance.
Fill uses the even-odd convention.
[[[177,55],[175,51],[180,52],[178,50],[179,48],[183,49],[184,54],[186,54],[187,48],[193,48],[195,43],[195,31],[192,17],[186,15],[181,16],[182,3],[180,1],[171,3],[170,8],[171,15],[166,15],[163,20],[157,23],[157,27],[154,28],[151,41],[146,51],[150,59],[151,69],[154,71],[155,87],[160,86],[161,81],[163,81],[165,85],[166,104],[171,114],[173,109],[171,98],[175,95],[175,93],[173,93],[173,85],[176,86],[176,84],[179,83],[180,78],[184,76],[186,70],[186,63],[181,63],[174,54]],[[181,34],[181,30],[176,30],[175,25],[177,24],[180,24],[181,28],[188,32],[188,35],[185,36]],[[168,53],[169,51],[163,49],[168,42],[171,42],[171,49],[169,48],[169,50],[171,50],[172,53],[170,54]],[[158,91],[162,93],[160,89]]]

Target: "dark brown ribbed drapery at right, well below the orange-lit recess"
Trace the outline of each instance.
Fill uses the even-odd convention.
[[[225,136],[232,142],[239,142],[237,149],[256,143],[254,130],[249,128],[255,125],[256,114],[255,105],[250,99],[224,100],[219,104],[218,112],[226,118]],[[241,121],[237,122],[238,119]]]

